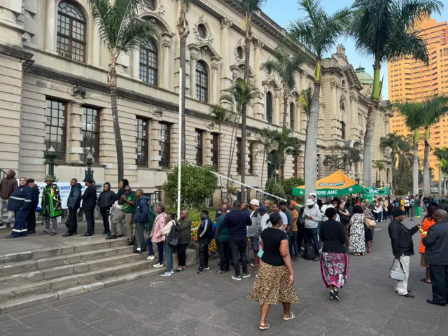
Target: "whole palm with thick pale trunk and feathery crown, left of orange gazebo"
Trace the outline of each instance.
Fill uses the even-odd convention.
[[[290,22],[288,31],[292,38],[304,44],[316,55],[314,66],[314,91],[309,108],[307,138],[305,144],[305,186],[306,195],[316,192],[317,177],[317,124],[321,92],[321,63],[325,54],[337,43],[339,36],[349,28],[351,11],[337,10],[332,15],[325,13],[319,0],[300,0],[304,18]]]

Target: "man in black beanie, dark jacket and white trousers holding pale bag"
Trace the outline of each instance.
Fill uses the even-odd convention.
[[[395,291],[398,295],[414,297],[414,295],[408,293],[407,279],[409,279],[409,261],[411,255],[414,255],[412,235],[419,230],[419,226],[414,226],[412,229],[406,228],[402,223],[405,219],[405,211],[400,208],[394,208],[392,216],[393,220],[388,226],[388,232],[389,237],[391,237],[393,256],[395,257],[394,265],[402,267],[406,273],[405,280],[396,281]]]

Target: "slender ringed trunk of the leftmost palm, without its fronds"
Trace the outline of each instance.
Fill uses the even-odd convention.
[[[111,69],[109,70],[109,89],[111,90],[111,108],[113,119],[113,132],[115,133],[115,146],[117,149],[118,182],[125,178],[125,162],[123,161],[123,141],[121,141],[120,121],[118,120],[117,106],[117,71],[116,59],[111,57]]]

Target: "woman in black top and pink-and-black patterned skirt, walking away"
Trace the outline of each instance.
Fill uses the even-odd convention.
[[[336,210],[328,208],[325,211],[328,221],[321,225],[321,241],[323,242],[321,254],[321,272],[325,286],[330,290],[330,300],[341,300],[338,288],[346,283],[349,273],[349,255],[345,250],[344,225],[336,221]]]

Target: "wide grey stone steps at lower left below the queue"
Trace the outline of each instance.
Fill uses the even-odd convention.
[[[22,239],[22,238],[20,238]],[[15,239],[10,239],[15,240]],[[55,248],[0,255],[0,312],[6,313],[64,297],[160,274],[165,267],[132,253],[127,239],[73,241]],[[188,250],[188,261],[195,262]],[[177,258],[175,258],[176,267]]]

